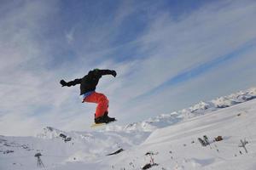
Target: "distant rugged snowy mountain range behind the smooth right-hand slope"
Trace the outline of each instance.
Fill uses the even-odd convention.
[[[131,123],[127,125],[125,129],[119,127],[116,130],[141,130],[145,132],[152,132],[159,127],[170,126],[176,124],[177,122],[182,122],[195,116],[204,115],[212,111],[218,111],[219,109],[230,107],[236,104],[241,104],[255,98],[256,88],[250,88],[247,91],[240,91],[236,94],[230,94],[228,96],[212,99],[211,101],[201,101],[198,104],[189,107],[188,109],[183,109],[182,111],[175,111],[170,114],[162,114],[154,118],[149,118],[144,122]]]

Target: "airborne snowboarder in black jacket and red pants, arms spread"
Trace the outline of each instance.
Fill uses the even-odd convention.
[[[89,71],[83,78],[75,79],[71,82],[61,80],[62,87],[75,86],[80,84],[80,95],[82,103],[96,103],[95,123],[108,123],[115,121],[115,118],[108,116],[108,98],[104,94],[96,93],[96,85],[104,75],[116,77],[116,71],[94,69]]]

